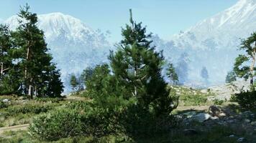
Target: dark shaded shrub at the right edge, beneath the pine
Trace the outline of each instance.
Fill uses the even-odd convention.
[[[256,108],[256,91],[241,92],[232,96],[232,101],[247,109]]]

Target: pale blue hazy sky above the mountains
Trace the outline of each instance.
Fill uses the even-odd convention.
[[[26,3],[32,12],[62,12],[84,21],[93,29],[111,31],[111,41],[120,39],[121,26],[129,21],[142,21],[148,31],[168,39],[198,21],[229,8],[237,0],[0,0],[0,21],[19,12]]]

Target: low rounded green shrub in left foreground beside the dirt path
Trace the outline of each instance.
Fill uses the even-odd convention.
[[[29,134],[38,139],[54,141],[82,133],[81,114],[72,109],[58,109],[33,119]]]

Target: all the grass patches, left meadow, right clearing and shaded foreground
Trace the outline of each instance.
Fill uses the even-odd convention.
[[[198,89],[190,89],[188,87],[173,87],[171,94],[177,94],[179,96],[179,106],[206,106],[212,104],[221,104],[224,106],[227,104],[223,101],[211,101],[207,100],[208,97],[214,96],[211,92],[202,93]],[[76,105],[79,106],[79,102],[76,100],[63,100],[63,99],[50,99],[50,98],[38,98],[33,100],[21,99],[21,97],[8,97],[0,96],[2,99],[9,99],[9,103],[4,103],[0,107],[0,127],[7,127],[17,124],[27,124],[31,122],[32,117],[37,114],[49,112],[57,108],[63,108],[66,106]],[[80,101],[81,102],[81,101]],[[241,108],[236,104],[229,104],[227,108],[232,109],[232,112],[239,114]],[[176,114],[181,112],[176,111]],[[183,111],[186,112],[186,111]],[[233,127],[215,126],[211,128],[204,127],[204,124],[195,122],[191,124],[193,129],[198,131],[195,135],[186,135],[183,129],[186,127],[180,124],[180,127],[172,129],[166,134],[156,134],[150,137],[127,137],[124,135],[111,134],[104,137],[69,137],[60,139],[51,143],[82,143],[82,142],[173,142],[173,143],[234,143],[237,142],[239,137],[245,137],[250,142],[256,142],[255,134],[248,134],[246,129],[240,129],[237,125]],[[234,134],[234,137],[229,137]],[[41,140],[35,139],[29,135],[27,131],[17,132],[4,132],[3,137],[0,137],[0,142],[4,143],[44,143]]]

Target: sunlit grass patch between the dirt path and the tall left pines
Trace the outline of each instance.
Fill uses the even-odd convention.
[[[0,101],[8,99],[6,106],[0,107],[0,127],[28,124],[37,114],[49,112],[63,106],[68,101],[63,99],[22,99],[22,97],[0,96]]]

